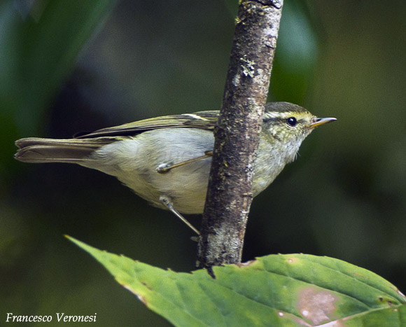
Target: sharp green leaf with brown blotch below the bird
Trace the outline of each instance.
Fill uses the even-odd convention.
[[[334,258],[271,255],[191,274],[152,267],[69,237],[175,326],[405,326],[406,298]],[[334,324],[333,324],[334,323]]]

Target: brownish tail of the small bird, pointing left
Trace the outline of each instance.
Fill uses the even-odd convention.
[[[85,164],[93,151],[112,139],[41,139],[30,137],[15,141],[15,159],[22,162],[69,162]]]

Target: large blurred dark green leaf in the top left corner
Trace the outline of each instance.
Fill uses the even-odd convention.
[[[35,130],[78,53],[115,4],[116,0],[0,4],[0,106],[15,115],[22,130]]]

